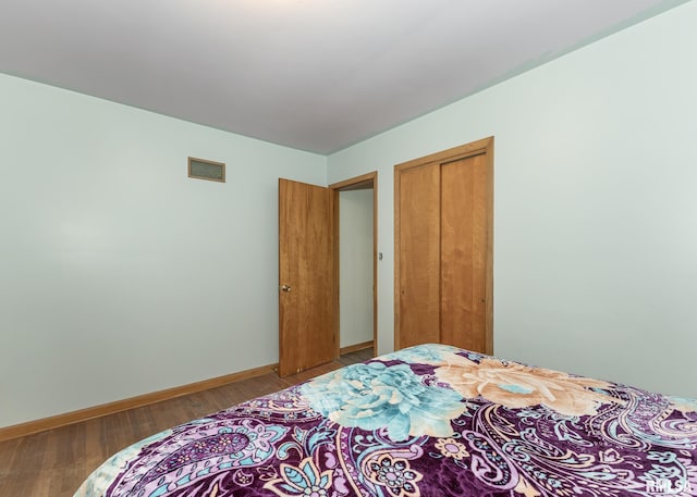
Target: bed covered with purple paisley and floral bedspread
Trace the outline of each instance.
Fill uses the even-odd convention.
[[[76,497],[697,495],[697,400],[443,345],[118,452]]]

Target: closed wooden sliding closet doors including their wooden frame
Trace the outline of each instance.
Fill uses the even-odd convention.
[[[395,169],[395,348],[492,353],[492,139]]]

